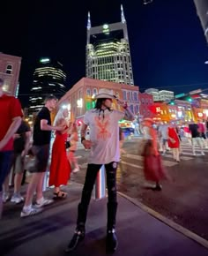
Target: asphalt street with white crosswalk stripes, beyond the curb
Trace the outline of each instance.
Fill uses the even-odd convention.
[[[188,141],[183,140],[179,163],[167,152],[162,160],[170,180],[162,183],[161,192],[154,192],[150,189],[152,184],[145,182],[143,159],[137,154],[140,141],[130,139],[123,145],[126,154],[122,155],[117,172],[118,191],[208,240],[208,149],[204,156],[199,150],[193,156]],[[77,155],[81,170],[71,180],[84,184],[88,152],[80,147]]]

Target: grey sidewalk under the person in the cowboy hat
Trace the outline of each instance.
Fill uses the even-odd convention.
[[[75,228],[82,185],[66,187],[69,196],[45,208],[40,215],[20,219],[22,205],[7,203],[0,222],[1,256],[100,256],[105,253],[106,203],[92,200],[86,222],[85,240],[75,252],[66,254]],[[48,196],[51,191],[46,192]],[[118,194],[115,256],[207,256],[208,250],[183,236]]]

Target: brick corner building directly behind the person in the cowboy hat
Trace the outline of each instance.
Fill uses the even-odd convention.
[[[79,124],[83,120],[85,111],[94,108],[94,95],[98,94],[100,88],[113,90],[119,99],[128,103],[131,111],[137,116],[139,112],[138,87],[97,79],[80,79],[63,95],[58,105],[69,109],[71,121],[77,121]],[[115,100],[112,107],[113,109],[123,110],[122,107],[116,104]]]

